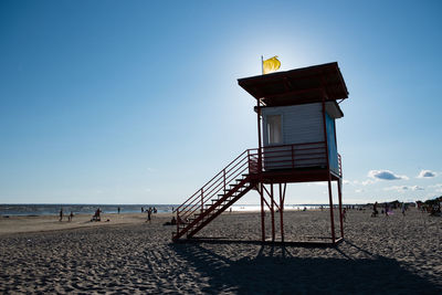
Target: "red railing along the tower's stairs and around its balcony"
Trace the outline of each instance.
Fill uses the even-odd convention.
[[[319,166],[326,157],[327,148],[325,141],[266,146],[261,147],[261,149],[251,148],[244,150],[175,210],[177,212],[177,239],[192,226],[197,226],[196,224],[206,215],[212,214],[212,211],[215,212],[217,204],[221,202],[222,198],[225,199],[228,193],[229,196],[235,196],[239,191],[238,186],[243,186],[245,182],[251,181],[243,177],[244,173],[259,173],[260,167],[262,169],[295,169]],[[339,154],[338,172],[341,177]],[[235,182],[235,179],[242,179],[242,181]],[[220,193],[221,191],[222,193]],[[217,201],[212,203],[210,202],[211,200]],[[208,207],[208,203],[210,203],[210,207]],[[200,212],[199,217],[197,215],[198,212]],[[185,228],[180,228],[183,224]]]

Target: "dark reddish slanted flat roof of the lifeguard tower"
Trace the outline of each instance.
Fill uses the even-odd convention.
[[[338,63],[239,78],[238,84],[266,106],[297,105],[348,98]]]

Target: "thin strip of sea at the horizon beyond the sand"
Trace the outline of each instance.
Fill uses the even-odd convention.
[[[64,214],[73,212],[74,214],[93,214],[98,208],[103,213],[141,213],[149,207],[157,209],[158,213],[172,212],[179,204],[53,204],[53,203],[0,203],[0,215],[56,215],[63,209]],[[318,210],[328,208],[327,204],[285,204],[284,210]],[[234,204],[232,211],[259,211],[260,204]],[[265,208],[267,211],[269,209]],[[276,210],[276,209],[275,209]]]

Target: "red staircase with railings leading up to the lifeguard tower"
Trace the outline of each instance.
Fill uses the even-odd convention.
[[[192,238],[257,185],[257,149],[248,149],[176,209],[172,240]]]

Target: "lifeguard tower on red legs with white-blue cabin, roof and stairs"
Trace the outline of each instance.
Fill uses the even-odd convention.
[[[202,186],[176,210],[172,240],[191,239],[251,189],[261,197],[262,241],[266,241],[264,208],[272,221],[280,213],[284,242],[284,201],[287,183],[327,181],[330,244],[344,238],[341,159],[335,120],[348,91],[337,63],[240,78],[239,85],[256,99],[259,147],[248,149]],[[337,182],[340,236],[335,233],[332,183]],[[277,192],[277,193],[276,193]],[[323,240],[324,241],[324,240]]]

